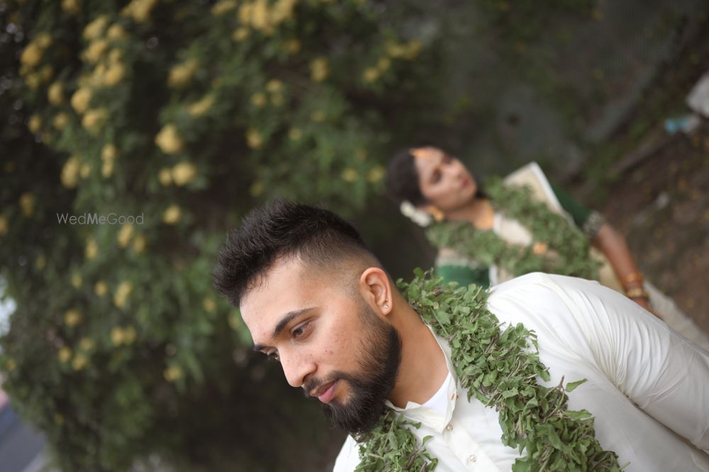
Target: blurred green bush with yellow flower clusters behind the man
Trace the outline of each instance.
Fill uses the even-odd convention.
[[[3,18],[5,388],[64,470],[194,459],[186,431],[213,415],[191,408],[264,413],[233,361],[250,335],[211,289],[225,229],[276,196],[352,213],[378,195],[406,122],[384,117],[425,95],[435,38],[357,0],[28,0]]]

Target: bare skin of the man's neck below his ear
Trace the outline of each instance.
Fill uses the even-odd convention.
[[[423,404],[440,388],[448,374],[445,354],[418,313],[410,306],[396,326],[401,333],[401,364],[389,401],[405,408],[410,401]],[[403,318],[403,319],[402,319]]]

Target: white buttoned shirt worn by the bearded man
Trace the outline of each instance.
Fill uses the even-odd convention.
[[[630,462],[625,471],[709,471],[709,352],[630,299],[574,277],[518,277],[493,287],[488,307],[501,322],[537,334],[551,376],[542,384],[588,379],[569,393],[569,408],[596,417],[598,442],[621,466]],[[450,348],[438,340],[455,379]],[[520,454],[502,444],[496,411],[474,397],[468,402],[457,379],[448,398],[445,415],[415,403],[397,408],[421,422],[413,430],[419,441],[432,435],[425,447],[439,459],[436,471],[510,471]],[[335,472],[358,463],[359,447],[348,437]]]

